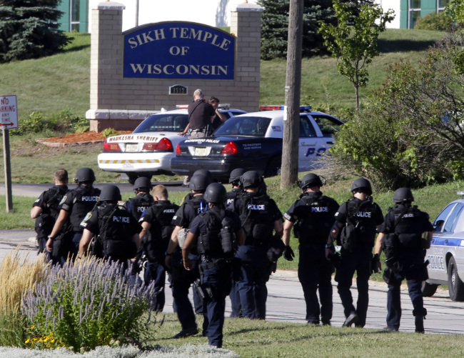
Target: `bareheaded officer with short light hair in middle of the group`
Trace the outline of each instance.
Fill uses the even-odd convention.
[[[174,226],[171,224],[178,205],[169,202],[168,190],[163,185],[153,188],[153,199],[156,201],[143,212],[139,222],[142,225],[140,233],[141,247],[146,257],[143,264],[143,280],[146,285],[155,282],[154,309],[163,311],[166,300],[164,286],[166,283],[166,266],[164,253],[168,249],[169,239]]]

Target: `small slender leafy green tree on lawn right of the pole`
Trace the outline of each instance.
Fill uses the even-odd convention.
[[[333,9],[338,24],[322,23],[318,32],[337,59],[338,72],[353,84],[359,109],[359,87],[368,83],[366,67],[378,56],[378,35],[394,19],[393,11],[384,14],[378,5],[363,4],[356,15],[347,4],[337,0],[333,1]]]

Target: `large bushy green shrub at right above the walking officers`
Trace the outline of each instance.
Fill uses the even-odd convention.
[[[464,178],[464,30],[455,30],[418,66],[389,66],[383,86],[339,132],[336,164],[388,189]]]

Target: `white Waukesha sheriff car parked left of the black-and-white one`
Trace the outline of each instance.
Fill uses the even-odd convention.
[[[103,153],[98,156],[99,168],[126,173],[131,184],[138,176],[151,178],[154,174],[173,174],[170,161],[175,155],[176,145],[184,139],[178,133],[188,124],[187,106],[178,107],[149,116],[132,134],[105,139]],[[228,118],[246,113],[229,109],[228,105],[222,105],[219,109]]]

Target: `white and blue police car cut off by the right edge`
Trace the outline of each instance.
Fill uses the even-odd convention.
[[[433,223],[433,239],[428,259],[428,280],[423,282],[425,297],[435,294],[439,284],[448,284],[450,299],[464,301],[464,192],[448,204]]]

